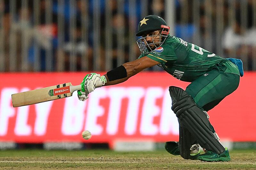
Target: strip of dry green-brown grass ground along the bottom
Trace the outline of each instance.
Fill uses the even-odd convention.
[[[0,169],[256,169],[256,150],[233,150],[229,162],[201,162],[166,151],[0,151]]]

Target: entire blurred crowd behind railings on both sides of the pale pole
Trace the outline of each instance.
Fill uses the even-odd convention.
[[[4,0],[4,4],[0,4],[4,11],[0,15],[4,30],[4,71],[12,70],[9,63],[13,54],[15,71],[22,71],[22,56],[27,56],[26,71],[34,71],[35,67],[37,71],[49,71],[47,55],[52,58],[50,71],[72,70],[73,59],[76,71],[95,70],[93,65],[97,59],[97,70],[115,68],[119,61],[134,60],[140,55],[135,37],[137,23],[149,14],[167,18],[165,1],[168,0],[76,0],[72,4],[71,0]],[[220,0],[174,0],[176,25],[171,29],[175,30],[175,36],[210,48],[209,51],[222,57],[242,59],[245,70],[256,70],[256,18],[253,17],[256,3],[248,0],[243,6],[236,0],[221,2],[218,8]],[[110,11],[110,16],[106,16],[106,10]],[[218,23],[220,14],[221,25]],[[99,21],[95,21],[97,19]],[[106,29],[108,19],[110,26]],[[106,41],[108,37],[111,41]],[[111,44],[106,44],[108,42]],[[108,54],[110,63],[106,61]]]

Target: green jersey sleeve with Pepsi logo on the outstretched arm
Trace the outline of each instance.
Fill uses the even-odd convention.
[[[163,64],[166,62],[175,62],[177,60],[174,48],[168,45],[162,45],[161,47],[149,53],[147,57]]]

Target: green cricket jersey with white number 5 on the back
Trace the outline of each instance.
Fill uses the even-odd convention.
[[[240,75],[237,66],[227,59],[170,35],[161,47],[148,55],[142,53],[139,58],[143,56],[159,62],[159,67],[181,81],[192,82],[212,70],[218,63],[227,66],[225,72]]]

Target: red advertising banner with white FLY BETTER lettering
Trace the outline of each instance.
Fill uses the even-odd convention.
[[[165,72],[142,72],[122,84],[97,88],[84,102],[74,92],[64,99],[12,107],[13,93],[68,82],[78,85],[86,74],[0,74],[0,141],[178,141],[178,121],[168,87],[185,89],[189,83]],[[256,141],[255,85],[256,72],[246,72],[238,89],[208,112],[221,139]],[[90,140],[81,137],[84,130],[92,133]]]

